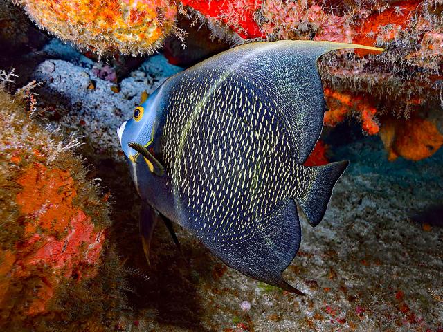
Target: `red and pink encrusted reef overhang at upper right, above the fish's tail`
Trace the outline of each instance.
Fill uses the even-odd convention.
[[[314,39],[385,48],[386,52],[381,54],[366,50],[338,52],[325,55],[320,61],[329,108],[325,124],[329,126],[356,115],[363,131],[374,135],[383,126],[381,118],[386,113],[408,119],[422,109],[440,108],[442,1],[182,3],[208,17],[208,21],[226,24],[243,42],[257,37]],[[239,7],[242,11],[237,10]],[[397,132],[397,136],[400,135],[401,132]]]

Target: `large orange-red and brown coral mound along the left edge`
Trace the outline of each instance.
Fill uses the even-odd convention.
[[[80,316],[76,325],[101,322],[104,307],[119,305],[124,279],[117,257],[105,250],[107,196],[98,195],[73,154],[78,141],[66,142],[33,120],[33,84],[10,95],[4,89],[12,74],[0,75],[0,327],[23,331],[57,320],[66,326]],[[91,295],[82,298],[86,289],[116,299],[103,306]],[[75,299],[69,306],[62,304],[66,294]],[[80,315],[76,301],[96,308]]]

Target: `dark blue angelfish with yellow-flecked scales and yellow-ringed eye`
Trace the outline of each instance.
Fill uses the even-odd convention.
[[[382,50],[244,44],[169,77],[136,107],[118,137],[144,205],[144,243],[162,216],[231,268],[304,295],[282,277],[300,247],[299,211],[318,225],[348,165],[303,165],[323,129],[317,61],[345,48]]]

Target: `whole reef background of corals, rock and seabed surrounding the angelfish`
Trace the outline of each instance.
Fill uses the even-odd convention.
[[[443,2],[0,0],[1,331],[443,331]],[[37,28],[39,26],[39,28]],[[118,126],[168,77],[245,42],[385,48],[319,61],[305,165],[350,160],[284,278],[154,233]],[[100,180],[98,180],[100,179]],[[184,258],[183,258],[184,256]]]

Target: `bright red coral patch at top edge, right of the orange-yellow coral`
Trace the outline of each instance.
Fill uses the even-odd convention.
[[[181,3],[223,21],[242,38],[265,37],[254,19],[254,12],[262,3],[260,0],[181,0]]]

